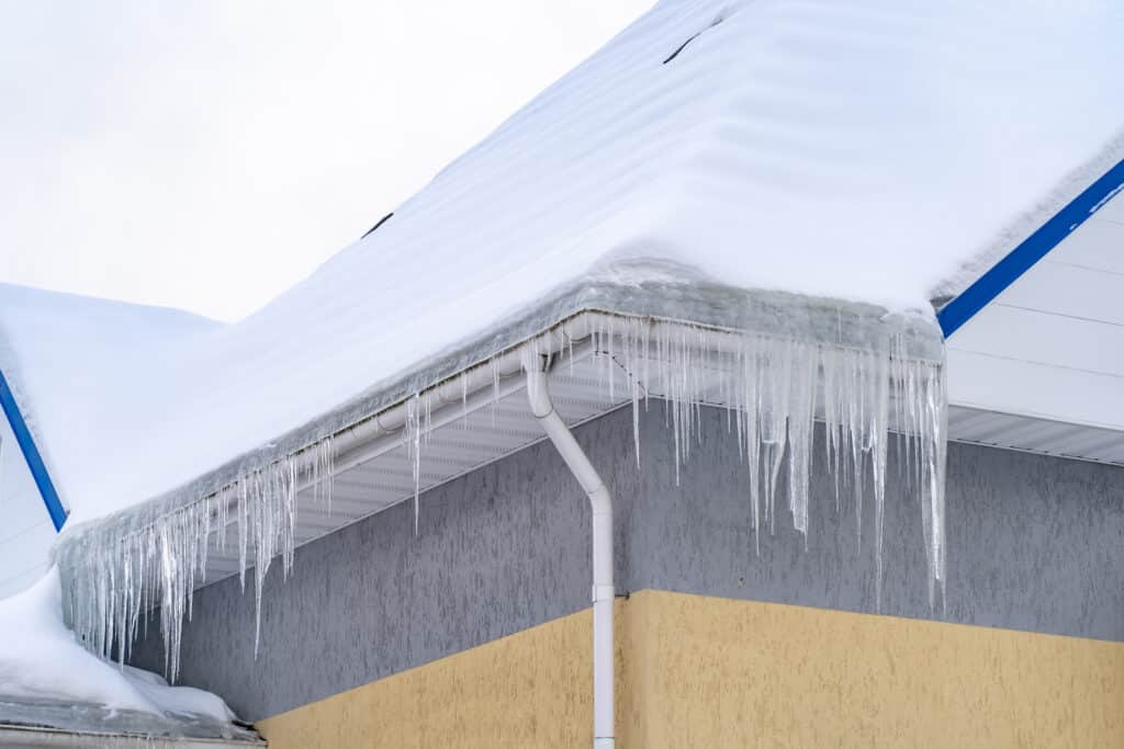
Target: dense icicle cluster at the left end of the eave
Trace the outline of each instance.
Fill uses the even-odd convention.
[[[79,640],[101,657],[116,655],[124,664],[133,642],[147,633],[148,612],[158,606],[164,669],[174,681],[183,622],[191,618],[191,593],[203,578],[210,536],[215,533],[216,544],[226,547],[227,526],[234,520],[243,585],[247,552],[254,550],[256,654],[261,592],[270,561],[281,556],[285,573],[291,570],[298,494],[307,486],[314,496],[330,502],[332,462],[330,441],[324,440],[111,540],[91,533],[61,547],[58,563],[72,574],[70,614]]]

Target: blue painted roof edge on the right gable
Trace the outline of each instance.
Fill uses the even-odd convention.
[[[1042,228],[996,263],[976,283],[942,307],[936,313],[936,319],[941,323],[944,337],[948,338],[971,320],[988,302],[1031,270],[1031,266],[1045,257],[1122,190],[1124,190],[1124,161],[1108,170],[1085,192],[1058,211]]]

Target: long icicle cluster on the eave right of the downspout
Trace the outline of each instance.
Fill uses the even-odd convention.
[[[842,341],[842,312],[836,313]],[[946,438],[944,367],[912,359],[900,336],[869,349],[782,337],[716,331],[683,323],[646,326],[595,320],[595,351],[633,378],[633,415],[638,446],[638,389],[664,400],[664,422],[674,449],[676,484],[681,466],[700,444],[701,409],[726,409],[726,431],[736,438],[750,481],[754,547],[760,529],[776,532],[778,484],[787,462],[788,512],[807,545],[815,421],[825,431],[825,465],[833,475],[834,505],[844,487],[853,497],[856,542],[863,510],[873,502],[874,599],[880,609],[885,577],[886,472],[896,439],[907,491],[919,496],[928,564],[930,600],[944,600],[944,462]],[[620,345],[614,344],[620,338]],[[609,364],[601,377],[615,395]],[[641,374],[642,373],[642,374]],[[640,375],[640,376],[637,376]],[[822,392],[822,400],[817,393]],[[891,431],[896,432],[891,437]]]

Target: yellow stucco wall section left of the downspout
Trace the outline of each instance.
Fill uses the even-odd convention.
[[[625,613],[620,603],[617,613]],[[591,612],[569,614],[269,718],[257,730],[270,749],[588,747],[591,638]],[[618,672],[623,663],[618,650]]]

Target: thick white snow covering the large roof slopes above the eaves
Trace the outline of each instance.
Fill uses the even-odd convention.
[[[236,325],[0,289],[69,524],[401,395],[468,341],[572,311],[547,304],[564,290],[931,316],[1124,155],[1122,31],[1105,3],[662,2]]]

